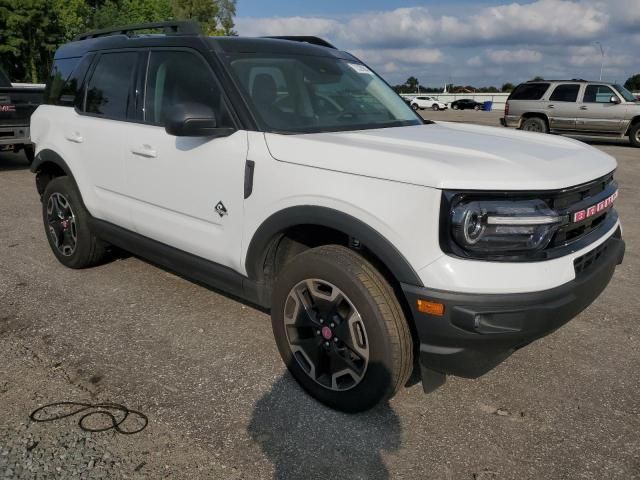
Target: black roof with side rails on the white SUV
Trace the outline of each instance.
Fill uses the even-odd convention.
[[[160,29],[163,33],[135,33],[152,29]],[[96,30],[78,35],[74,41],[62,45],[55,58],[81,57],[91,51],[119,48],[198,46],[218,53],[276,53],[355,59],[317,37],[207,37],[199,31],[199,26],[193,22],[160,22]]]

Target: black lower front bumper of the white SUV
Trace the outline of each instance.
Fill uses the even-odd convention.
[[[605,289],[624,250],[618,230],[575,259],[574,280],[541,292],[468,294],[403,284],[419,337],[425,390],[441,384],[445,374],[479,377],[518,348],[560,328]],[[418,299],[444,304],[444,315],[419,312]]]

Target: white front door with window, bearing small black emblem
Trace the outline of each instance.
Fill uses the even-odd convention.
[[[146,71],[142,122],[126,136],[136,231],[241,270],[247,132],[206,138],[165,131],[175,104],[208,105],[219,127],[233,126],[215,75],[196,51],[151,50]]]

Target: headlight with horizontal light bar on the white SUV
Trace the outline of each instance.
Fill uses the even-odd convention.
[[[462,199],[448,208],[454,253],[480,258],[542,250],[567,220],[537,199]]]

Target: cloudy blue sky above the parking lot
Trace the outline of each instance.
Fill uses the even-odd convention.
[[[640,73],[640,0],[237,0],[240,35],[317,35],[389,83],[494,85]],[[598,43],[599,42],[599,43]]]

